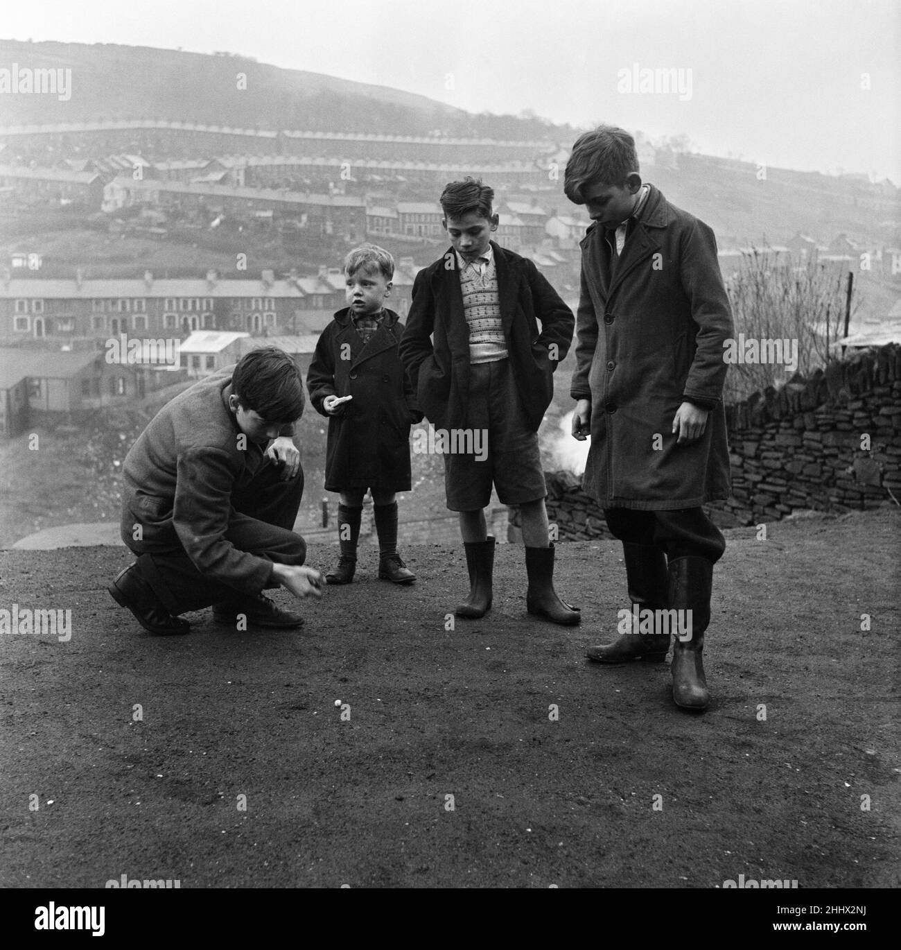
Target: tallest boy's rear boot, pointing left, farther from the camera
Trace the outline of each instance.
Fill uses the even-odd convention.
[[[632,609],[662,610],[666,607],[666,556],[651,544],[623,543],[626,582]],[[639,619],[640,619],[639,615]],[[656,629],[656,627],[655,627]],[[596,663],[628,663],[643,659],[662,663],[669,650],[669,634],[621,634],[612,643],[589,647],[586,656]]]

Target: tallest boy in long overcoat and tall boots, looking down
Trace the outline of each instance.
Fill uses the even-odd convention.
[[[581,244],[571,390],[573,436],[591,435],[583,487],[623,542],[638,613],[667,623],[623,632],[588,656],[662,662],[678,618],[673,699],[704,709],[704,631],[725,540],[701,505],[729,496],[723,342],[733,329],[716,239],[642,183],[621,128],[602,125],[575,142],[564,190],[595,222]]]

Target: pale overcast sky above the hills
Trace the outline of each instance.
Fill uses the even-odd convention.
[[[0,34],[228,50],[901,183],[899,0],[28,0],[4,5]],[[685,70],[682,96],[627,91],[635,64]]]

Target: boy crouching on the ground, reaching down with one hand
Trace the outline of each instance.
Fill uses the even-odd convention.
[[[108,590],[152,634],[186,634],[189,610],[218,623],[298,627],[262,594],[320,597],[293,526],[304,491],[291,440],[303,377],[288,353],[254,350],[163,406],[125,456],[122,541],[138,556]]]

